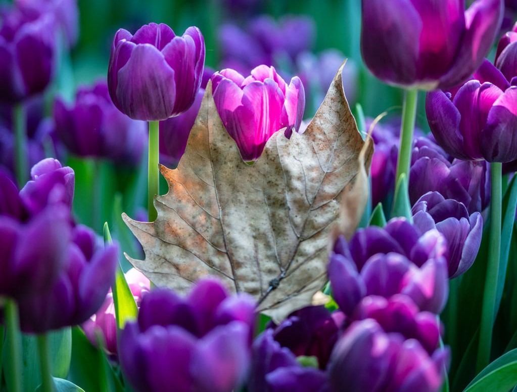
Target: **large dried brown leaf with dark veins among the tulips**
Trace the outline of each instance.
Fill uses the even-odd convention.
[[[181,293],[216,275],[276,321],[310,305],[326,281],[329,236],[338,223],[352,235],[368,200],[372,143],[357,130],[341,72],[305,133],[287,139],[279,130],[252,165],[224,129],[208,84],[177,169],[161,167],[169,192],[155,198],[158,218],[124,216],[146,256],[128,260]]]

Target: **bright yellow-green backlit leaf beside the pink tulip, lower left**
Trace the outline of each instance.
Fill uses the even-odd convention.
[[[112,243],[108,223],[104,223],[104,243]],[[128,321],[136,319],[136,316],[138,316],[138,308],[136,307],[133,293],[131,293],[120,263],[117,265],[115,283],[112,285],[111,290],[113,292],[117,329],[121,330]]]

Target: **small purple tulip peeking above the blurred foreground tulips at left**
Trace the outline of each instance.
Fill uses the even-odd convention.
[[[45,158],[31,169],[31,178],[20,190],[27,210],[38,214],[48,205],[64,204],[72,208],[75,174],[54,158]]]

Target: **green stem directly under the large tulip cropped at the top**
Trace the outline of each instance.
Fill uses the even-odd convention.
[[[402,107],[402,124],[400,128],[399,159],[397,161],[396,184],[402,174],[406,175],[409,184],[409,166],[411,164],[411,152],[413,150],[413,131],[417,112],[418,90],[409,89],[404,94]]]

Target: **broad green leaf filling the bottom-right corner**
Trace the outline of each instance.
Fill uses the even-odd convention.
[[[494,360],[467,385],[464,392],[505,392],[517,384],[517,349]]]

